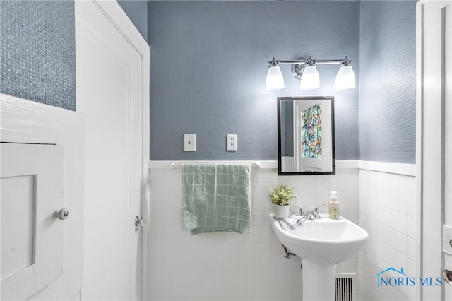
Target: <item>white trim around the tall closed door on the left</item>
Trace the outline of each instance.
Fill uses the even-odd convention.
[[[80,1],[76,0],[76,5]],[[141,217],[148,220],[149,212],[149,149],[150,149],[150,123],[149,123],[149,70],[150,70],[150,49],[148,43],[141,36],[141,33],[136,29],[129,17],[123,11],[117,1],[100,1],[90,0],[109,20],[116,30],[129,42],[131,47],[141,57]],[[76,9],[77,11],[77,9]],[[77,18],[77,16],[76,16]],[[82,95],[79,90],[81,87],[77,85],[77,95]],[[77,110],[84,112],[83,99],[77,97]],[[141,279],[137,279],[140,285],[141,299],[145,291],[143,283],[148,281],[148,273],[146,273],[146,266],[148,266],[148,228],[141,227],[139,240],[141,242]]]

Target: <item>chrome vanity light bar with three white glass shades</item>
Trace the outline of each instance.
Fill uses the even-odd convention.
[[[334,88],[336,90],[345,90],[355,88],[355,73],[353,72],[352,61],[347,59],[329,59],[316,60],[309,59],[280,60],[273,59],[268,61],[268,73],[266,78],[266,90],[280,90],[284,88],[284,78],[280,65],[293,65],[292,76],[300,80],[299,88],[301,90],[312,90],[320,87],[319,71],[316,65],[340,65],[336,74]]]

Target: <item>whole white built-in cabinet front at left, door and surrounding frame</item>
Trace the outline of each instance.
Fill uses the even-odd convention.
[[[0,138],[1,300],[71,300],[83,281],[83,115],[0,93]],[[63,207],[69,218],[54,219]]]

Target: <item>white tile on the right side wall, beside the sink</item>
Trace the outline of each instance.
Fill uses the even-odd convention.
[[[369,244],[359,254],[359,300],[420,300],[418,286],[377,287],[375,276],[395,268],[417,277],[415,177],[360,170],[359,225]],[[396,275],[389,275],[397,276]]]

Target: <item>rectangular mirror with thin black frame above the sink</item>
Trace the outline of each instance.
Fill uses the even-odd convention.
[[[334,98],[278,98],[278,175],[335,175]]]

